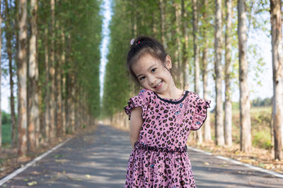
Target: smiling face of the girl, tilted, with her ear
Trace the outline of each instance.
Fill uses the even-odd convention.
[[[166,56],[163,64],[149,54],[141,56],[132,65],[132,70],[141,86],[162,95],[170,94],[169,91],[174,86],[173,78],[169,72],[171,68],[170,56]]]

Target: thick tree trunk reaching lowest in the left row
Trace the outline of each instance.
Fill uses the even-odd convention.
[[[27,146],[27,1],[19,1],[19,49],[18,49],[18,156],[28,151]]]

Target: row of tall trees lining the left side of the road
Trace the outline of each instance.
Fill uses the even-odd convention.
[[[1,0],[0,5],[0,67],[10,77],[12,147],[23,156],[98,116],[100,1]]]

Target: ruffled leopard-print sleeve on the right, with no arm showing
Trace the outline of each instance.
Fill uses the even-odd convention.
[[[200,99],[197,97],[197,103],[195,105],[195,113],[192,117],[192,126],[190,130],[199,130],[202,124],[207,119],[207,108],[210,108],[211,101],[206,99]]]

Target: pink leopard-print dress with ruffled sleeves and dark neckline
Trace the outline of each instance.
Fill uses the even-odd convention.
[[[210,101],[185,91],[179,99],[164,99],[141,89],[125,112],[141,106],[144,123],[129,156],[125,187],[196,187],[187,137],[207,118]]]

